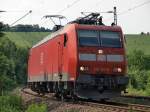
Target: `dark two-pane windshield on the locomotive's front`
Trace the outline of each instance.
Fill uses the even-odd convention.
[[[116,48],[120,48],[122,46],[119,32],[79,30],[78,38],[80,46],[101,46]]]

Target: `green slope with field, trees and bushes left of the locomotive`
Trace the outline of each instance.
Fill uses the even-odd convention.
[[[48,34],[48,32],[5,32],[5,35],[0,37],[0,112],[25,111],[19,92],[15,92],[14,95],[14,92],[10,91],[26,82],[28,49]],[[25,112],[36,110],[46,112],[46,105],[33,104]]]

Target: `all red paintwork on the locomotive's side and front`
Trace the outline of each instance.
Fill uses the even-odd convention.
[[[122,73],[126,74],[126,61],[122,63],[106,63],[106,62],[82,62],[79,61],[78,53],[98,53],[99,49],[104,51],[104,54],[122,54],[125,56],[125,48],[96,48],[96,47],[78,47],[77,40],[77,29],[91,29],[91,30],[110,30],[119,31],[121,39],[124,46],[124,39],[121,28],[118,26],[94,26],[94,25],[79,25],[79,24],[69,24],[58,35],[48,40],[47,42],[31,48],[30,56],[28,61],[28,75],[29,77],[41,76],[44,74],[54,74],[54,73],[67,73],[70,77],[76,77],[80,73],[80,65],[86,65],[90,67],[88,71],[91,74],[97,73],[97,68],[101,68],[104,72],[103,74],[109,75],[114,74],[111,70],[112,67],[122,67]],[[64,34],[67,34],[67,44],[64,47]],[[125,58],[125,57],[124,57]]]

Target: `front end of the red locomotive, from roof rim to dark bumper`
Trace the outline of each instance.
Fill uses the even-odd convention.
[[[77,94],[91,99],[119,96],[128,84],[121,28],[79,25],[77,37]]]

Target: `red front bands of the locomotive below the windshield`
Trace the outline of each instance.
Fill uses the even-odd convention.
[[[124,55],[124,49],[120,48],[79,48],[80,53],[93,53],[98,55],[98,50],[104,51],[104,55],[108,54],[121,54]],[[124,57],[124,60],[125,57]],[[126,62],[88,62],[80,61],[79,66],[89,67],[88,73],[90,74],[106,74],[106,75],[125,75],[126,74]],[[121,73],[114,73],[113,68],[122,68]],[[81,72],[82,73],[82,72]]]

